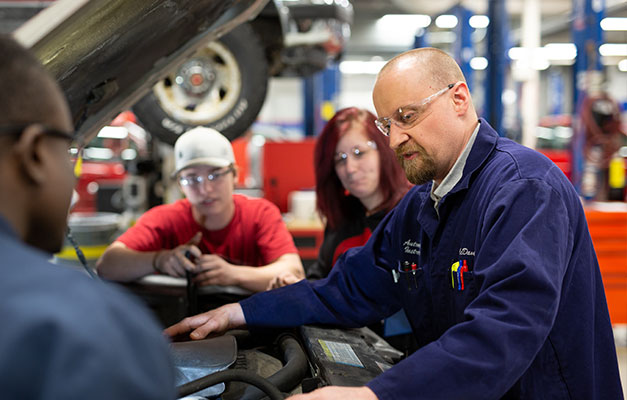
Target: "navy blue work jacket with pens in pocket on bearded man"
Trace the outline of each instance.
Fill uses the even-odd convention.
[[[421,346],[379,399],[621,399],[585,214],[546,157],[481,121],[443,197],[413,188],[325,280],[241,302],[250,325],[360,326],[403,308]]]

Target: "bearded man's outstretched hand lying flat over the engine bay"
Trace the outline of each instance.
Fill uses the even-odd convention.
[[[193,317],[187,317],[164,330],[164,333],[173,338],[192,331],[189,337],[198,340],[204,339],[210,333],[223,333],[244,325],[246,325],[246,319],[242,307],[239,303],[231,303]]]

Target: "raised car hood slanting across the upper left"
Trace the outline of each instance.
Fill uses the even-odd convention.
[[[254,18],[268,0],[58,0],[14,36],[63,88],[78,139],[204,43]]]

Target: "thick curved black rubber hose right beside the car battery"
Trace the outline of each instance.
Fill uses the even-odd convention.
[[[309,364],[305,352],[296,339],[289,335],[284,335],[279,338],[278,342],[285,365],[267,379],[282,392],[289,392],[303,380]],[[249,387],[241,399],[257,400],[262,397],[263,393],[261,391]]]

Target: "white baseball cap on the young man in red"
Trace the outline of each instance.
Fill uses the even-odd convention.
[[[231,142],[215,129],[204,126],[190,129],[174,144],[175,171],[172,176],[193,165],[222,168],[231,164],[235,164]]]

